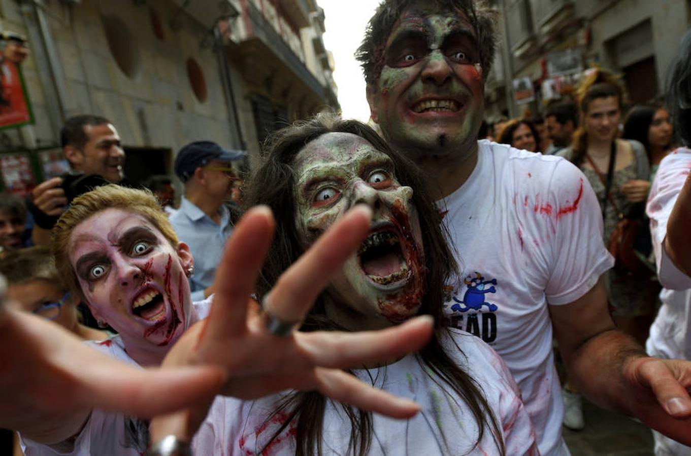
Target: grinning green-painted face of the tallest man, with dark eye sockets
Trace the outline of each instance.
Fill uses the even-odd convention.
[[[372,119],[392,145],[418,162],[456,157],[474,146],[484,83],[475,30],[465,14],[404,11],[383,59],[368,100]]]

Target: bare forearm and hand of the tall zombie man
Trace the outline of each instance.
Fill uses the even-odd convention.
[[[569,379],[583,395],[691,444],[691,362],[648,357],[616,330],[603,277],[583,297],[549,310]]]

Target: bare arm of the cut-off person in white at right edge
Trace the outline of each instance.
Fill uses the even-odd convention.
[[[679,192],[679,197],[674,203],[667,224],[667,237],[665,237],[665,252],[674,264],[686,275],[691,276],[691,236],[688,230],[691,227],[691,175],[686,178],[684,186]]]

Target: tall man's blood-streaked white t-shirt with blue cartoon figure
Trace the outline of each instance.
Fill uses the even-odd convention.
[[[486,140],[478,148],[471,176],[439,201],[461,272],[446,315],[506,361],[540,453],[567,455],[547,304],[576,301],[613,266],[600,205],[565,159]]]

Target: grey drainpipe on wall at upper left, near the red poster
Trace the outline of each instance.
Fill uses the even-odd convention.
[[[28,4],[30,3],[30,4]],[[30,0],[30,2],[23,2],[21,9],[25,13],[33,13],[32,16],[35,21],[29,17],[30,14],[23,14],[24,23],[30,34],[31,40],[35,43],[41,43],[44,57],[48,62],[48,72],[41,71],[39,68],[39,80],[41,86],[46,91],[46,103],[50,111],[50,123],[53,124],[53,129],[57,132],[62,128],[65,120],[66,102],[65,81],[63,77],[62,68],[55,49],[53,36],[50,34],[46,14],[41,9],[37,0]],[[40,66],[40,63],[39,63]],[[53,90],[49,90],[52,88]],[[53,92],[52,94],[50,92]],[[52,95],[52,96],[51,96]]]

